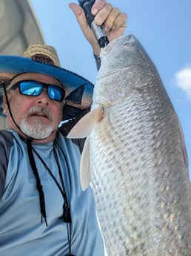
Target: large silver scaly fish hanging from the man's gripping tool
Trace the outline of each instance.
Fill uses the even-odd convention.
[[[92,110],[68,137],[86,137],[81,186],[93,188],[110,256],[190,256],[191,187],[178,115],[133,35],[101,49]]]

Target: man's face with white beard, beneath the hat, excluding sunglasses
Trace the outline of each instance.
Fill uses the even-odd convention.
[[[38,73],[23,73],[16,76],[11,85],[22,80],[33,80],[62,87],[58,80],[53,77]],[[9,91],[7,96],[13,118],[24,134],[36,139],[46,139],[48,137],[46,142],[54,140],[58,125],[61,122],[64,102],[50,99],[45,88],[38,96],[22,95],[19,93],[19,88]],[[4,112],[7,114],[7,123],[10,128],[23,135],[10,116],[5,97]]]

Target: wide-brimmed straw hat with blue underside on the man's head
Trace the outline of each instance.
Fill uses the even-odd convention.
[[[8,82],[19,73],[42,73],[58,79],[66,91],[63,120],[73,118],[92,104],[93,84],[70,70],[61,68],[54,47],[41,44],[30,45],[22,56],[0,56],[0,104],[1,82]],[[0,114],[3,110],[0,108]]]

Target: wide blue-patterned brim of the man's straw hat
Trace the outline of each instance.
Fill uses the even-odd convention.
[[[19,73],[41,73],[58,79],[66,91],[66,105],[63,120],[71,119],[90,108],[93,96],[93,83],[77,73],[53,65],[33,61],[22,56],[0,56],[0,82],[10,80]],[[0,91],[0,101],[2,102]],[[0,109],[0,115],[2,108]]]

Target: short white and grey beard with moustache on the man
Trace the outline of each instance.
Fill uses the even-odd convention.
[[[27,116],[30,116],[33,113],[44,113],[48,116],[51,120],[50,125],[45,125],[41,122],[41,119],[37,119],[33,125],[30,125],[27,122]],[[21,131],[27,135],[28,137],[32,137],[36,140],[44,140],[49,137],[54,131],[54,117],[53,114],[50,112],[49,108],[41,108],[41,107],[33,107],[30,108],[30,111],[24,116],[24,119],[21,121],[20,125]]]

